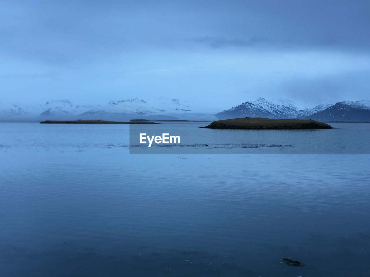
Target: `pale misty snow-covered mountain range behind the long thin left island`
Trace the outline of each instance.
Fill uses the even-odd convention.
[[[130,120],[188,119],[216,120],[213,114],[196,113],[178,99],[159,97],[151,101],[125,99],[99,105],[74,105],[69,100],[50,100],[44,104],[22,106],[0,102],[0,121],[40,120]]]

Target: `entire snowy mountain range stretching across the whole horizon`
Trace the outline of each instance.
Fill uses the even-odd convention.
[[[22,106],[0,102],[0,121],[40,120],[130,120],[185,119],[218,120],[238,117],[270,119],[314,119],[317,121],[370,121],[370,101],[326,103],[309,109],[297,109],[290,100],[270,101],[262,97],[247,101],[216,114],[196,113],[178,99],[159,97],[145,101],[126,99],[99,105],[74,105],[68,100],[51,100],[44,104]]]

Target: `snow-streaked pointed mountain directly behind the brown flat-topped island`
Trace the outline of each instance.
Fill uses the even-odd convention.
[[[224,110],[215,114],[219,119],[232,119],[239,117],[265,117],[270,119],[283,119],[291,114],[297,113],[297,108],[292,101],[278,100],[272,103],[265,98],[260,97],[256,101],[245,102],[239,106]]]

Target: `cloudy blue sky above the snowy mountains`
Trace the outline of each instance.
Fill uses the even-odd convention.
[[[370,1],[0,2],[0,101],[369,100]]]

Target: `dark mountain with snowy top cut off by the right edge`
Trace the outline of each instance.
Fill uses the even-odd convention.
[[[311,114],[307,119],[317,121],[370,121],[370,101],[343,101],[322,111]]]

